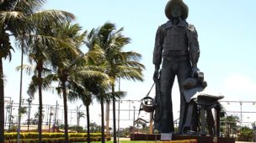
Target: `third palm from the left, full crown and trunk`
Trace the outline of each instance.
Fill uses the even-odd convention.
[[[63,24],[55,30],[57,38],[68,40],[74,44],[72,47],[56,45],[51,50],[52,72],[55,73],[51,77],[59,81],[59,87],[56,87],[56,90],[59,94],[62,94],[63,98],[65,142],[68,142],[67,86],[72,82],[72,76],[74,77],[77,73],[83,74],[81,70],[78,70],[84,62],[84,59],[81,58],[83,53],[79,48],[82,45],[85,33],[80,34],[81,27],[78,24]]]

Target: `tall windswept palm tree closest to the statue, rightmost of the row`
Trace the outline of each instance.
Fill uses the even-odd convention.
[[[130,43],[130,39],[122,34],[124,29],[115,28],[115,24],[105,23],[99,29],[94,30],[99,40],[99,48],[103,50],[105,73],[109,75],[111,80],[111,93],[115,93],[115,81],[118,77],[128,80],[142,81],[142,70],[145,68],[139,60],[141,55],[135,51],[123,51],[124,46]],[[113,102],[113,125],[114,125],[114,142],[116,143],[116,125],[115,125],[115,96],[112,97]],[[107,113],[109,114],[109,104],[107,105]],[[108,118],[108,117],[107,117]],[[107,119],[106,128],[109,128]]]

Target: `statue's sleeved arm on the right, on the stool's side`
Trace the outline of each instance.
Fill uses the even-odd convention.
[[[200,47],[198,42],[198,35],[194,25],[189,24],[187,34],[189,39],[189,60],[191,61],[192,68],[198,69],[197,62],[200,56]]]

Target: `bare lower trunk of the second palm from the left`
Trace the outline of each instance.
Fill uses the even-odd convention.
[[[38,119],[38,140],[42,142],[42,116],[43,116],[43,99],[42,99],[42,72],[38,71],[38,96],[39,96],[39,119]]]

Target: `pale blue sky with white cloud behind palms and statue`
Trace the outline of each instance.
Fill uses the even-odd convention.
[[[131,38],[131,44],[125,50],[141,53],[141,63],[146,66],[144,82],[120,81],[120,90],[127,92],[124,100],[141,100],[152,86],[152,52],[157,27],[168,21],[164,14],[167,0],[48,0],[44,9],[58,9],[73,13],[74,23],[80,24],[83,30],[98,28],[105,22],[115,23],[117,29],[124,28],[123,34]],[[194,24],[199,35],[200,60],[198,67],[205,74],[208,87],[205,93],[224,95],[223,101],[256,101],[256,53],[255,22],[256,1],[238,0],[184,0],[189,7],[187,22]],[[14,44],[13,44],[14,45]],[[26,61],[26,59],[24,60]],[[15,49],[13,60],[4,61],[5,96],[19,102],[19,72],[15,67],[20,65],[20,51]],[[24,75],[23,98],[28,98],[26,90],[30,77]],[[118,87],[117,87],[118,88]],[[150,93],[154,96],[154,89]],[[179,87],[173,86],[173,114],[179,118]],[[44,93],[44,103],[54,105],[56,100],[63,104],[56,93]],[[38,103],[35,97],[33,103]],[[75,109],[81,102],[69,103],[69,109]],[[139,102],[120,103],[120,109],[131,109],[120,112],[120,126],[132,125],[133,106],[139,109]],[[239,103],[227,104],[227,110],[240,111]],[[256,105],[243,103],[243,111],[256,112]],[[99,103],[91,108],[91,121],[99,124]],[[141,113],[148,118],[148,114]],[[235,114],[239,115],[240,114]],[[129,117],[128,117],[129,116]],[[111,118],[111,117],[110,117]],[[253,114],[243,114],[243,121],[256,121]],[[125,120],[130,119],[130,120]],[[73,119],[75,120],[75,119]],[[83,122],[83,121],[82,121]]]

